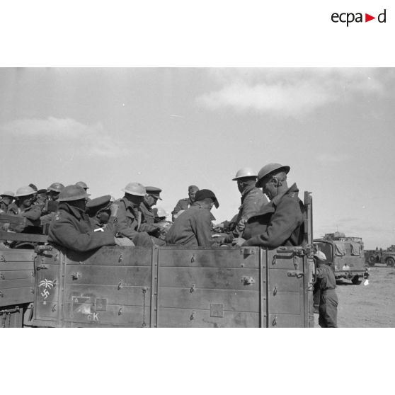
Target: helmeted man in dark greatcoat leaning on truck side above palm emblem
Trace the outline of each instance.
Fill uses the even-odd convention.
[[[116,244],[114,232],[93,231],[84,214],[88,194],[78,185],[67,185],[59,193],[59,210],[52,218],[48,241],[73,251],[91,251]]]

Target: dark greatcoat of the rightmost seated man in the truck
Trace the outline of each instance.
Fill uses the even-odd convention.
[[[248,219],[243,246],[299,246],[302,243],[304,206],[293,184],[285,193],[273,197],[261,212]]]

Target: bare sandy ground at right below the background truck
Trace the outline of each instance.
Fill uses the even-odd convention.
[[[339,328],[395,327],[395,268],[377,264],[369,268],[369,284],[337,283]],[[319,327],[318,314],[314,326]]]

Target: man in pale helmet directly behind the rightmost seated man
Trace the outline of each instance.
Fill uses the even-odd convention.
[[[241,237],[248,219],[256,215],[263,205],[268,204],[268,198],[263,195],[259,188],[256,188],[256,173],[249,167],[241,168],[237,171],[232,181],[237,181],[237,188],[241,193],[241,205],[236,220],[231,222],[231,233],[222,236],[218,241],[221,243],[231,243],[236,237]]]

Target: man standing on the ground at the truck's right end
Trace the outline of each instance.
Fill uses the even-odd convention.
[[[317,262],[316,288],[319,297],[319,326],[321,328],[338,327],[338,295],[336,294],[336,277],[333,269],[326,263],[326,256],[322,251],[316,251],[314,257]]]

